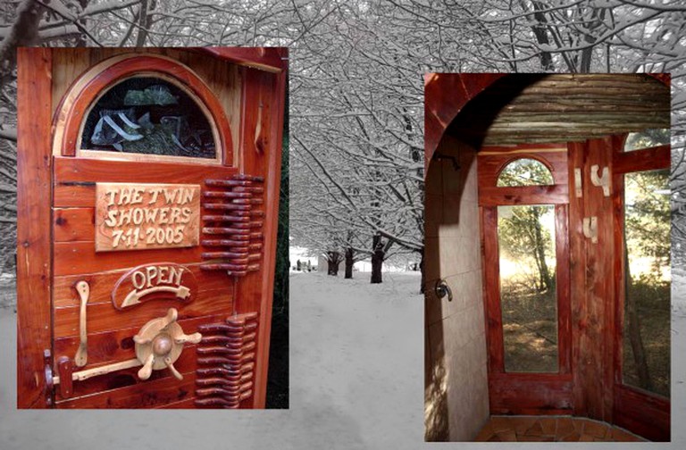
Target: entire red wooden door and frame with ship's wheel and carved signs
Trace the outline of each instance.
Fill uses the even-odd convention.
[[[20,407],[264,407],[280,56],[21,50]]]

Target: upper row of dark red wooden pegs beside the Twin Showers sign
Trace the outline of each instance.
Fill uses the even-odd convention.
[[[202,245],[207,271],[243,276],[259,271],[263,248],[264,178],[236,174],[230,179],[205,179]]]

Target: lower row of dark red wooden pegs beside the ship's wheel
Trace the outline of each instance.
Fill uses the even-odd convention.
[[[257,312],[237,314],[226,323],[201,325],[197,345],[196,405],[238,408],[253,395]]]

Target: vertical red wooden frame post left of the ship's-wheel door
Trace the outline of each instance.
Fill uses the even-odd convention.
[[[52,58],[17,49],[17,407],[45,408],[43,353],[50,340]]]

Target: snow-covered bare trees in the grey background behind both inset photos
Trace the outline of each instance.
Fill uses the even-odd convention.
[[[671,72],[673,248],[686,246],[681,0],[6,0],[0,15],[5,273],[18,46],[288,46],[290,244],[371,259],[372,282],[384,261],[422,260],[424,72]]]

